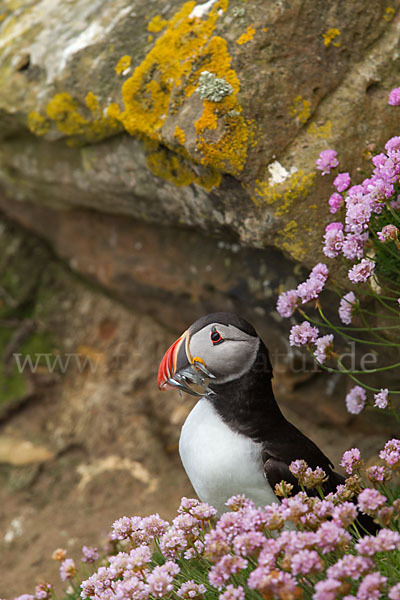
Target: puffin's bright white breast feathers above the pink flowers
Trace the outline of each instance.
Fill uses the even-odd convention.
[[[226,425],[202,398],[186,419],[179,440],[185,471],[203,502],[218,512],[234,494],[245,494],[257,506],[277,502],[264,476],[261,444]]]

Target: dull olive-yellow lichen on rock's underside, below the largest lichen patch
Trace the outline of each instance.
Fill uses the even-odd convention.
[[[153,145],[154,149],[146,157],[146,164],[157,177],[171,181],[178,187],[196,183],[206,190],[211,190],[220,185],[221,174],[217,170],[198,167],[194,171],[191,161],[183,155],[171,152],[165,146],[157,145],[154,142]],[[202,169],[201,173],[199,173],[200,169]]]

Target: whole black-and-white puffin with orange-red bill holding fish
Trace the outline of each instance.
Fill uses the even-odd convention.
[[[219,513],[236,494],[258,506],[279,502],[275,485],[282,480],[294,486],[293,493],[299,491],[289,470],[297,459],[325,471],[325,495],[344,482],[318,446],[283,416],[272,377],[264,342],[233,313],[201,317],[161,361],[161,390],[172,387],[199,397],[182,427],[179,453],[196,494]]]

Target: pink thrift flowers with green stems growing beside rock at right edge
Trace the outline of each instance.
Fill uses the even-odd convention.
[[[389,104],[400,105],[399,90],[392,90]],[[369,148],[369,152],[373,149]],[[281,293],[276,309],[284,318],[293,317],[296,312],[302,316],[303,322],[295,323],[290,330],[291,346],[306,347],[322,368],[348,373],[357,383],[345,400],[350,413],[359,414],[367,405],[381,410],[390,407],[400,421],[394,402],[394,394],[400,392],[369,386],[373,394],[367,395],[368,387],[362,375],[359,376],[393,369],[400,363],[379,365],[375,370],[368,370],[364,365],[359,369],[356,366],[348,368],[338,350],[334,351],[333,334],[320,335],[322,327],[331,328],[344,340],[369,343],[374,356],[377,355],[374,345],[398,347],[395,334],[390,330],[400,327],[400,136],[390,138],[384,152],[372,156],[371,160],[371,174],[361,182],[352,182],[348,172],[337,174],[333,178],[335,191],[328,201],[330,212],[337,213],[338,217],[325,228],[323,252],[329,259],[342,259],[347,272],[347,284],[344,277],[337,276],[339,272],[343,273],[343,269],[331,270],[330,280],[335,291],[340,293],[338,316],[346,327],[337,326],[334,319],[323,311],[320,294],[329,275],[328,267],[323,263],[318,263],[296,289]],[[338,166],[338,155],[333,149],[321,152],[316,161],[322,175],[329,174]],[[349,291],[351,284],[354,289]],[[373,321],[375,315],[371,310],[374,306],[360,301],[360,298],[368,297],[373,298],[377,307],[378,323]],[[311,318],[305,313],[302,305],[310,301],[314,301],[313,307],[318,310],[320,318]],[[352,327],[347,327],[349,325]],[[337,339],[335,345],[340,347]],[[337,360],[336,368],[332,361],[329,366],[325,365],[329,358]],[[385,357],[384,360],[389,362],[390,359]]]

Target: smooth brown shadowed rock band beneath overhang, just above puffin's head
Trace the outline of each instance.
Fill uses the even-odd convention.
[[[282,349],[287,323],[280,328],[276,298],[302,273],[279,250],[87,210],[57,211],[1,198],[0,209],[45,238],[74,271],[174,333],[201,314],[232,310]]]

